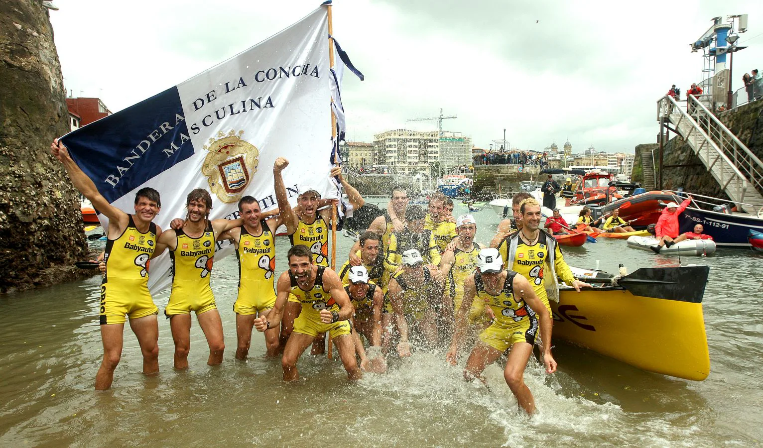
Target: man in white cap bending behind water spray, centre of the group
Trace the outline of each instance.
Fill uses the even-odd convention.
[[[410,333],[416,340],[433,346],[437,340],[436,317],[442,312],[443,283],[435,271],[424,265],[416,249],[401,256],[402,270],[389,282],[388,312],[394,313],[400,340],[398,354],[410,356]],[[409,331],[412,327],[413,331]]]

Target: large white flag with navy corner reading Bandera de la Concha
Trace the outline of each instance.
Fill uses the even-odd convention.
[[[332,151],[326,6],[204,73],[63,137],[111,204],[132,213],[137,190],[159,191],[156,224],[185,218],[192,189],[211,192],[210,218],[237,218],[243,195],[274,208],[272,166],[289,160],[288,195],[329,180]],[[335,194],[335,193],[334,193]],[[101,216],[106,228],[106,220]],[[217,247],[230,253],[230,243]],[[169,256],[150,264],[150,288],[169,284]]]

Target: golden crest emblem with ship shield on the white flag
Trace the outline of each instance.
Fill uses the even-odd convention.
[[[201,173],[207,176],[211,192],[227,204],[241,198],[259,165],[259,150],[242,140],[242,134],[243,131],[218,132],[217,139],[212,137],[204,145],[209,153]]]

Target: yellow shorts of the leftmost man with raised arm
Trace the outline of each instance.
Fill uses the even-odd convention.
[[[124,324],[127,319],[159,314],[151,294],[144,282],[130,282],[124,279],[111,279],[101,283],[101,325]]]

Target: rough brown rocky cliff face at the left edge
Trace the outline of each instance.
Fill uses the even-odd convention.
[[[79,194],[50,155],[69,131],[61,66],[38,0],[0,0],[0,292],[81,276]]]

